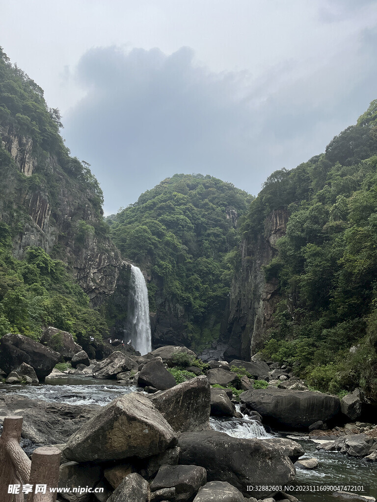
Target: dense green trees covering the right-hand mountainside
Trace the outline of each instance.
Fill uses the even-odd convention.
[[[267,179],[246,235],[278,207],[289,222],[265,268],[282,298],[267,354],[319,390],[360,385],[377,398],[377,100],[323,155]]]

